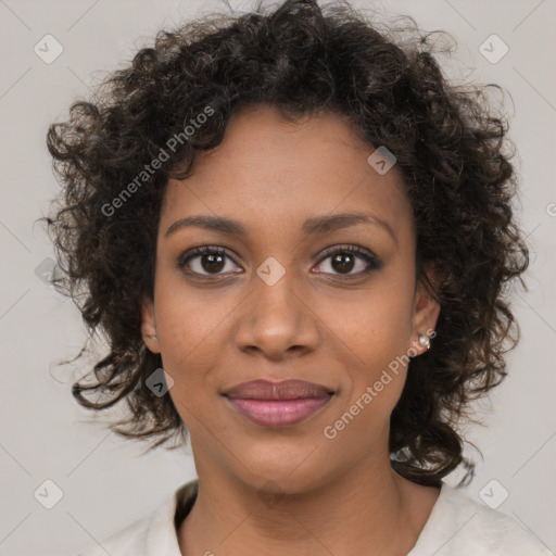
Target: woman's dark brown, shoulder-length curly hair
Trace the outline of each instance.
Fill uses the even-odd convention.
[[[439,485],[460,466],[468,480],[475,465],[458,424],[472,420],[470,402],[507,375],[504,355],[519,338],[508,287],[515,278],[526,287],[529,264],[513,208],[507,121],[486,94],[502,89],[450,83],[432,40],[450,35],[419,30],[409,16],[379,30],[348,2],[288,0],[273,10],[258,3],[247,14],[160,30],[93,98],[75,101],[66,122],[50,126],[47,144],[63,184],[43,218],[61,269],[53,283],[78,305],[87,341],[104,332],[110,343],[92,382],[75,382],[73,395],[91,409],[125,400],[126,418],[111,428],[154,438],[151,447],[177,432],[187,438],[170,396],[146,388],[161,359],[140,330],[168,178],[187,177],[195,153],[222,142],[242,105],[266,103],[291,121],[334,112],[369,146],[394,153],[414,211],[417,278],[441,306],[433,349],[410,359],[391,415],[392,467]],[[184,124],[207,110],[212,117],[185,137]],[[164,163],[153,164],[156,157]]]

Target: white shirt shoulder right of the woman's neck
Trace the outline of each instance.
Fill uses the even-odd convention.
[[[553,553],[508,516],[442,483],[416,545],[408,556],[548,556]]]

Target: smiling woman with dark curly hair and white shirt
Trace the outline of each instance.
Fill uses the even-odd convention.
[[[189,433],[199,476],[84,555],[549,554],[442,481],[472,476],[457,426],[528,250],[505,122],[405,30],[311,0],[193,22],[51,126],[56,283],[110,339],[73,393]]]

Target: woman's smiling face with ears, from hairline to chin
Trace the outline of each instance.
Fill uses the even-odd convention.
[[[388,464],[406,355],[422,353],[439,307],[416,280],[401,177],[376,172],[374,150],[338,115],[293,124],[250,106],[191,177],[168,182],[142,332],[174,380],[200,475],[302,492]],[[281,402],[286,420],[262,424],[225,395],[260,379],[331,394]]]

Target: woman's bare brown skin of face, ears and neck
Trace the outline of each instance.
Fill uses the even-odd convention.
[[[142,333],[174,379],[168,393],[199,476],[178,530],[185,555],[406,555],[438,498],[439,489],[390,466],[389,420],[406,367],[334,439],[324,434],[396,356],[426,350],[418,336],[440,311],[416,279],[401,176],[395,166],[378,174],[367,162],[374,150],[336,114],[290,123],[274,108],[249,106],[233,113],[223,143],[198,155],[191,177],[167,185]],[[302,232],[306,218],[351,212],[381,218],[392,235],[376,223]],[[233,218],[248,233],[182,227],[166,237],[192,215]],[[179,268],[200,245],[225,248],[238,264],[226,256],[214,270],[201,255]],[[369,265],[355,253],[342,274],[333,254],[323,255],[333,245],[358,245],[382,265],[364,274]],[[273,286],[256,274],[269,256],[285,270]],[[306,420],[268,429],[220,395],[260,378],[299,378],[336,394]]]

